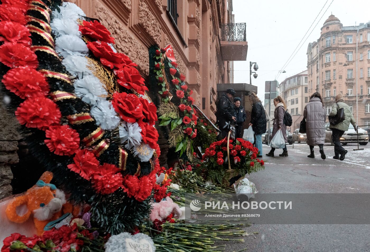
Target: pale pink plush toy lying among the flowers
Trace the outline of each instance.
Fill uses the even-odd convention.
[[[162,221],[172,212],[177,216],[181,215],[180,207],[174,203],[170,197],[166,197],[166,200],[162,200],[161,202],[154,202],[152,203],[152,206],[153,209],[149,215],[149,219],[151,221],[154,221],[155,219]]]

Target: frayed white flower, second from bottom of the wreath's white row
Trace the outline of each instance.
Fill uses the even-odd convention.
[[[141,128],[137,122],[122,122],[120,126],[120,138],[121,143],[127,141],[125,145],[126,149],[132,149],[134,145],[140,145],[142,136],[140,134]]]

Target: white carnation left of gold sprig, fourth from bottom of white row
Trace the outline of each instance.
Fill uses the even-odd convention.
[[[100,80],[90,74],[76,80],[74,82],[74,88],[76,95],[90,105],[95,105],[98,101],[105,100],[102,96],[108,94]]]

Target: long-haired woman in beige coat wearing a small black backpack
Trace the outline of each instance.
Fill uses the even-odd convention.
[[[286,139],[286,125],[284,124],[284,115],[286,110],[286,104],[284,99],[279,95],[274,99],[274,105],[275,105],[275,111],[274,111],[274,122],[273,122],[273,129],[272,129],[272,135],[271,139],[275,136],[276,132],[278,130],[281,130],[283,132],[283,137],[285,142],[288,142]],[[271,147],[271,150],[266,156],[273,157],[274,156],[275,148]],[[279,154],[280,157],[287,157],[288,156],[288,150],[285,147],[283,148],[283,153]]]

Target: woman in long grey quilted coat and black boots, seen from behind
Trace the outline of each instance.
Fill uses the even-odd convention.
[[[307,157],[314,158],[313,147],[319,145],[321,158],[325,159],[324,141],[325,141],[325,120],[326,111],[324,108],[323,98],[319,92],[313,93],[310,101],[303,111],[303,118],[306,119],[307,144],[310,146],[310,155]]]

